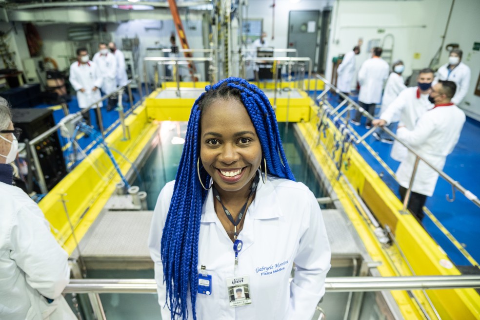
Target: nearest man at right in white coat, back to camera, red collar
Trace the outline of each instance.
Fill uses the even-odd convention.
[[[447,155],[459,141],[465,123],[465,113],[451,102],[456,89],[453,81],[440,80],[432,87],[429,95],[429,100],[435,107],[420,116],[413,130],[405,127],[397,130],[400,139],[439,170],[443,169]],[[409,152],[396,172],[402,201],[410,184],[415,159],[416,156]],[[433,195],[438,178],[439,174],[420,160],[408,204],[408,208],[420,222],[424,216],[423,205],[427,197]]]

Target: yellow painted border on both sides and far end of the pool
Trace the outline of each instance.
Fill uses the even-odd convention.
[[[183,99],[155,101],[159,100],[155,98],[157,94],[155,92],[150,94],[146,102],[135,110],[135,114],[130,114],[126,118],[126,125],[132,140],[124,141],[122,139],[120,126],[105,139],[109,146],[122,152],[132,162],[157,131],[157,120],[186,121],[190,114],[190,108],[194,101],[183,101]],[[398,245],[416,275],[459,275],[460,271],[457,268],[446,268],[440,264],[442,260],[449,261],[448,257],[413,216],[400,214],[402,205],[399,199],[354,147],[349,148],[345,153],[340,166],[343,175],[340,175],[339,180],[335,182],[339,175],[335,161],[339,161],[340,152],[334,153],[333,160],[331,154],[336,144],[334,137],[340,138],[340,132],[330,120],[325,118],[324,120],[328,123],[325,136],[322,131],[319,133],[317,129],[319,124],[318,107],[306,94],[299,100],[302,100],[301,103],[304,104],[302,105],[300,102],[295,106],[290,104],[289,121],[294,121],[290,119],[303,120],[298,124],[299,130],[320,164],[323,173],[332,182],[333,191],[337,194],[343,210],[356,228],[368,254],[373,261],[381,263],[378,267],[381,276],[408,276],[412,273],[394,245],[384,246],[379,243],[373,232],[374,226],[369,223],[365,212],[349,188],[349,184],[358,191],[380,224],[388,225],[392,229]],[[279,121],[286,119],[286,105],[282,104],[283,102],[277,99]],[[114,156],[122,173],[125,174],[131,168],[130,163],[118,153],[114,153]],[[55,237],[69,254],[76,247],[72,228],[75,229],[76,239],[80,241],[114,192],[115,185],[119,181],[120,177],[107,154],[99,148],[92,151],[78,167],[41,200],[40,208],[50,222]],[[62,202],[62,195],[64,202]],[[72,226],[70,226],[64,206],[68,211]],[[391,293],[405,319],[424,319],[419,305],[406,291],[392,291]],[[427,310],[430,317],[436,319],[423,292],[413,291],[413,295]],[[480,297],[473,289],[428,290],[428,295],[443,320],[480,319]]]

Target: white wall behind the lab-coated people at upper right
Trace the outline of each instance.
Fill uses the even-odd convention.
[[[368,40],[383,39],[387,34],[395,38],[393,61],[401,59],[405,63],[403,75],[410,75],[412,69],[427,67],[440,47],[451,4],[451,0],[337,0],[331,23],[327,79],[331,78],[334,56],[352,50],[358,38],[363,38],[362,52],[357,56],[358,69],[369,56]],[[480,54],[472,51],[473,42],[480,42],[479,13],[479,0],[455,1],[444,47],[448,43],[460,43],[463,62],[472,70],[469,94],[460,107],[477,113],[480,118],[480,97],[473,95]],[[379,34],[378,29],[384,29],[385,33]],[[415,58],[415,53],[420,57]],[[445,63],[447,58],[448,53],[443,49],[440,63]]]

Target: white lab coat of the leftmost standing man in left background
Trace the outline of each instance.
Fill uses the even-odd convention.
[[[77,92],[77,100],[80,109],[89,107],[91,104],[100,100],[100,87],[102,84],[102,77],[100,70],[94,62],[88,63],[74,62],[70,66],[70,84]],[[96,91],[92,91],[93,87],[97,87]],[[80,92],[80,89],[85,89],[85,92]],[[102,104],[100,103],[100,107]]]

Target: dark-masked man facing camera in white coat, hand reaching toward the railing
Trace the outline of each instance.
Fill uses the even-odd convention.
[[[409,87],[400,92],[399,96],[380,114],[380,119],[373,120],[372,124],[374,126],[385,126],[398,119],[400,126],[407,130],[413,130],[420,116],[433,108],[433,104],[428,100],[433,77],[432,69],[420,70],[417,77],[417,86]],[[400,142],[395,141],[390,157],[401,162],[406,158],[407,153],[407,148]]]

